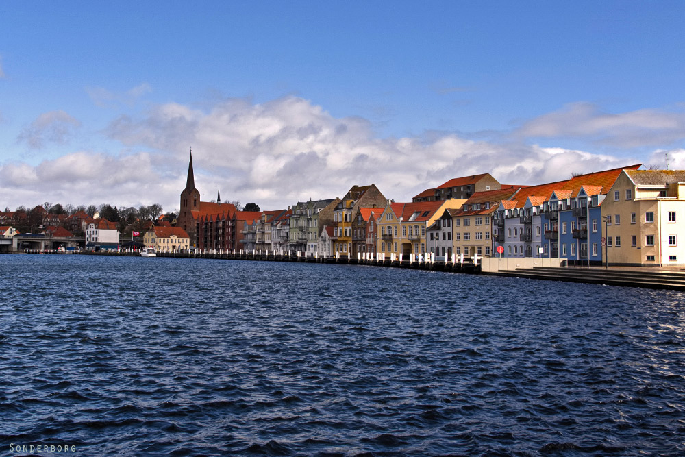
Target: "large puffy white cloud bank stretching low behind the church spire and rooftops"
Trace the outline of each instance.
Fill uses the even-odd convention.
[[[452,177],[492,173],[503,184],[540,184],[638,163],[609,155],[521,142],[488,143],[456,134],[379,139],[368,121],[335,118],[299,97],[253,104],[216,102],[210,110],[179,103],[142,119],[121,116],[107,133],[131,151],[112,157],[77,152],[38,166],[0,166],[0,206],[53,201],[179,206],[192,146],[203,199],[256,201],[264,209],[299,199],[342,197],[353,184],[375,183],[388,199],[410,201]],[[5,197],[7,196],[7,197]]]

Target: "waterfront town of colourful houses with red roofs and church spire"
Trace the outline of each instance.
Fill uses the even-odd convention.
[[[142,211],[147,217],[119,221],[92,210],[55,214],[42,206],[0,212],[0,251],[152,247],[351,258],[413,254],[445,261],[453,254],[560,258],[589,266],[683,264],[685,243],[679,245],[678,238],[685,233],[678,214],[685,217],[685,171],[640,168],[630,164],[534,186],[501,184],[482,173],[455,177],[407,202],[394,201],[373,183],[354,184],[341,197],[245,210],[259,208],[221,203],[219,191],[215,201],[201,199],[191,153],[179,214],[161,214],[159,206]]]

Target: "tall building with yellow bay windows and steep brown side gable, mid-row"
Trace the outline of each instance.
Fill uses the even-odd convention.
[[[353,215],[357,208],[384,208],[386,198],[375,184],[369,186],[352,186],[333,211],[334,234],[332,237],[334,252],[345,256],[356,257],[362,240],[352,243]],[[365,242],[363,243],[365,245]]]

